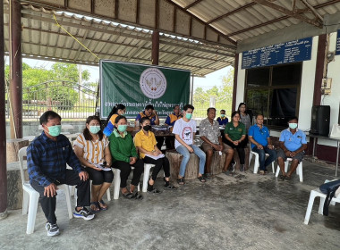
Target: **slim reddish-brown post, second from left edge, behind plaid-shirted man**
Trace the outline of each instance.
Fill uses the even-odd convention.
[[[22,137],[21,4],[10,1],[11,138]]]

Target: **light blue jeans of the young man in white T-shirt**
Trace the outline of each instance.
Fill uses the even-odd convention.
[[[200,174],[204,174],[204,165],[206,164],[206,154],[198,146],[195,146],[195,145],[189,145],[189,146],[191,146],[191,148],[193,149],[193,153],[196,154],[197,156],[199,156],[199,158],[200,158],[200,169],[199,169],[199,172],[200,172]],[[176,147],[176,151],[179,154],[183,155],[183,160],[181,162],[179,175],[184,177],[186,165],[188,164],[188,162],[190,160],[190,152],[183,145],[177,146]]]

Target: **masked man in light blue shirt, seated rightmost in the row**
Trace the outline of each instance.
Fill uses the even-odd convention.
[[[280,148],[277,152],[277,163],[280,166],[282,175],[279,180],[290,180],[293,171],[296,170],[300,162],[302,162],[304,150],[307,148],[306,135],[302,130],[297,129],[298,118],[293,117],[288,120],[289,128],[281,132]],[[285,161],[292,158],[291,169],[285,173]]]

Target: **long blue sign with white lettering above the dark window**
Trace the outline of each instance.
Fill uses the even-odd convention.
[[[312,37],[307,37],[274,46],[244,51],[242,53],[242,69],[310,60],[311,45]]]

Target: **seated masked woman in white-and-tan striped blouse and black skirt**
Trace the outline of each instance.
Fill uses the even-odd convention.
[[[74,153],[89,173],[89,179],[92,179],[90,203],[92,212],[107,209],[103,196],[114,179],[108,139],[100,128],[99,117],[89,116],[83,133],[74,141]]]

